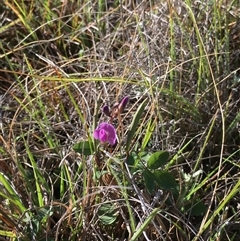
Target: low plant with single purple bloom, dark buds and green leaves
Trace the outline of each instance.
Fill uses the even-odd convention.
[[[146,100],[142,102],[133,117],[126,136],[126,143],[117,137],[116,129],[119,130],[122,125],[121,114],[126,108],[128,101],[129,97],[123,98],[111,111],[108,106],[105,105],[103,107],[102,111],[108,116],[109,123],[101,122],[93,132],[93,138],[99,141],[99,144],[94,145],[95,140],[81,141],[75,144],[73,149],[85,156],[95,156],[95,164],[98,167],[96,172],[99,173],[100,171],[101,173],[98,177],[103,178],[106,173],[109,175],[108,177],[111,177],[104,183],[105,185],[119,185],[127,204],[130,219],[132,220],[131,232],[134,233],[136,230],[136,220],[132,214],[128,200],[129,194],[138,192],[138,186],[141,184],[145,186],[150,195],[154,195],[158,189],[178,192],[178,184],[174,175],[165,168],[169,161],[169,153],[167,151],[150,153],[143,150],[139,152],[134,150],[135,133],[144,112]],[[114,127],[112,124],[115,119],[118,120],[118,127]],[[95,149],[94,146],[96,147]],[[114,151],[114,148],[118,151]],[[117,165],[120,166],[121,172],[114,171],[113,168],[116,168]],[[134,182],[131,179],[135,176],[139,178]],[[118,197],[120,198],[120,196]],[[98,215],[102,225],[111,226],[121,216],[114,203],[102,203],[99,205]],[[156,214],[157,212],[155,212]],[[155,215],[151,215],[152,219],[154,219]],[[150,221],[148,220],[147,223],[149,224]],[[138,236],[141,234],[139,231],[136,232]],[[144,228],[141,232],[144,232]]]

